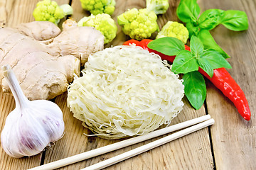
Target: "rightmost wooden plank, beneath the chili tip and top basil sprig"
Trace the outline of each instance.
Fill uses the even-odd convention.
[[[202,8],[235,9],[247,13],[249,29],[242,32],[218,26],[211,33],[216,42],[230,55],[231,76],[245,91],[252,118],[249,122],[239,115],[228,98],[208,82],[207,108],[215,119],[211,127],[215,166],[217,169],[256,169],[255,122],[255,1],[204,1]]]

